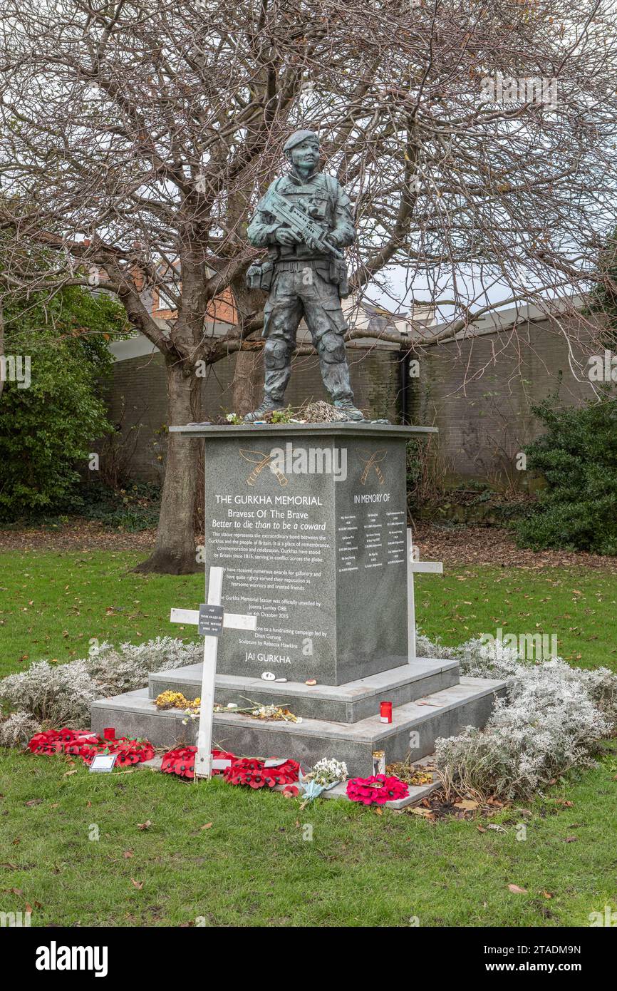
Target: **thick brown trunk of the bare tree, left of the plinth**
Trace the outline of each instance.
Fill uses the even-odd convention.
[[[201,382],[201,380],[199,380]],[[195,419],[194,377],[175,357],[167,359],[167,423],[181,426]],[[167,434],[165,479],[154,552],[135,571],[188,575],[201,571],[196,560],[194,512],[200,447],[203,440]]]

